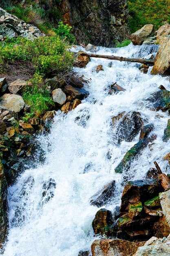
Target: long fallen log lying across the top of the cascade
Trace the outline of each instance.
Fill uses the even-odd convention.
[[[77,52],[74,52],[74,54],[77,54]],[[145,59],[145,58],[124,58],[124,57],[118,57],[114,55],[99,55],[99,54],[93,54],[93,53],[87,53],[87,55],[91,58],[106,58],[108,60],[113,61],[126,61],[126,62],[137,62],[142,64],[152,64],[154,65],[154,60],[152,59]]]

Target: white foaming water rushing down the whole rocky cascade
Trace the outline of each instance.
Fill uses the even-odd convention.
[[[157,49],[130,44],[120,49],[99,47],[97,53],[149,58]],[[99,64],[104,71],[97,74],[93,69]],[[123,174],[114,169],[139,140],[137,135],[132,142],[115,143],[111,118],[120,112],[140,112],[144,124],[154,124],[153,133],[157,135],[152,148],[147,147],[131,165],[130,179],[142,179],[155,160],[163,171],[168,171],[163,156],[169,153],[170,141],[162,141],[168,114],[149,110],[144,99],[161,84],[170,90],[170,82],[161,76],[143,74],[138,68],[139,64],[92,58],[86,68],[75,69],[91,78],[86,88],[90,94],[67,115],[57,112],[50,134],[39,138],[46,151],[46,163],[26,170],[9,187],[10,229],[5,256],[77,256],[79,250],[90,248],[96,239],[91,223],[99,210],[89,204],[90,198],[115,180],[117,195],[102,208],[113,211],[120,204]],[[109,85],[115,82],[126,91],[108,94]]]

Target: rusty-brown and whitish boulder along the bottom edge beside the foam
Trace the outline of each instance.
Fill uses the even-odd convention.
[[[133,243],[122,239],[95,240],[91,245],[91,252],[92,256],[132,256],[144,243]]]

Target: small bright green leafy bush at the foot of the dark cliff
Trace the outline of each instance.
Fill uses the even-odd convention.
[[[68,24],[64,25],[63,22],[58,22],[58,28],[54,29],[54,32],[61,36],[62,38],[66,38],[70,43],[75,43],[75,36],[71,34],[72,27]]]

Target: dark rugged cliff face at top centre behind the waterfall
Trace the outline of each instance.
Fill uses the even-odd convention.
[[[62,0],[62,16],[78,44],[113,46],[129,37],[127,0]]]

